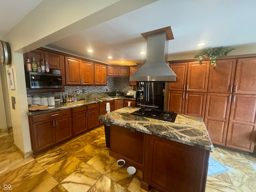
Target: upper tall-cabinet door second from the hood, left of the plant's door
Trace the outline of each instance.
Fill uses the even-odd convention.
[[[206,92],[209,76],[209,61],[188,62],[186,91]]]

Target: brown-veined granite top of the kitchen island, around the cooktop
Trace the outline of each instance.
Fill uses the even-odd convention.
[[[201,118],[178,114],[175,122],[167,122],[131,114],[138,109],[124,107],[99,116],[99,120],[213,151],[212,141]]]

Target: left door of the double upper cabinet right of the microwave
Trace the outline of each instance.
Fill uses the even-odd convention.
[[[66,85],[80,85],[80,61],[76,58],[65,57]]]

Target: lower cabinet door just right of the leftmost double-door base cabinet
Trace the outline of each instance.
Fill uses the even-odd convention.
[[[87,111],[73,113],[73,135],[87,130]]]

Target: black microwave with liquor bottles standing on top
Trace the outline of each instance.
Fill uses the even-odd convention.
[[[26,86],[29,89],[63,88],[61,74],[26,73]]]

